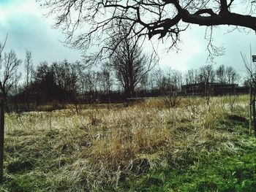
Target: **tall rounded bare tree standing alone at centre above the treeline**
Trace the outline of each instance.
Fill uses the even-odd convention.
[[[124,88],[125,96],[129,98],[135,96],[135,87],[156,64],[154,54],[143,54],[138,39],[125,38],[110,55],[109,66]]]

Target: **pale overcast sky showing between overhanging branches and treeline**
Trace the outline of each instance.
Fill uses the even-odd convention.
[[[32,51],[34,64],[40,61],[68,61],[80,60],[78,50],[64,47],[61,41],[64,36],[60,31],[52,29],[53,23],[42,16],[42,9],[35,0],[0,0],[0,41],[3,42],[8,33],[8,41],[5,51],[12,48],[18,57],[24,59],[26,50]],[[217,58],[216,66],[225,64],[233,66],[239,72],[244,71],[244,64],[241,61],[240,52],[246,53],[249,57],[249,46],[252,45],[252,53],[256,55],[256,34],[251,31],[244,33],[233,31],[227,33],[231,28],[225,26],[214,29],[215,45],[225,47],[225,55]],[[159,43],[159,65],[163,68],[197,69],[206,64],[208,52],[206,51],[207,41],[204,39],[205,27],[191,26],[190,29],[181,34],[181,50],[178,53],[162,51],[169,42]]]

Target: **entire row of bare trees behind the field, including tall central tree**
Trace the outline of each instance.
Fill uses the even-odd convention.
[[[203,82],[207,87],[211,82],[233,84],[240,80],[232,66],[214,69],[214,65],[209,64],[187,72],[157,69],[156,55],[144,53],[139,39],[134,37],[122,39],[109,54],[100,68],[67,60],[53,64],[43,61],[36,65],[31,51],[26,50],[21,80],[18,66],[22,61],[11,50],[1,56],[1,93],[6,100],[10,96],[9,100],[15,101],[16,106],[25,104],[29,109],[31,104],[56,101],[81,104],[165,96],[180,93],[181,85]]]

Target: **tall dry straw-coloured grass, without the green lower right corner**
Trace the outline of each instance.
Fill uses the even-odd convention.
[[[189,154],[246,145],[248,96],[162,99],[129,107],[69,106],[7,114],[2,191],[121,191],[127,177],[177,166]],[[230,122],[235,123],[230,123]]]

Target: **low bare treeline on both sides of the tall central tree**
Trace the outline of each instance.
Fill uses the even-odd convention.
[[[127,99],[120,81],[107,66],[94,71],[79,62],[42,62],[35,69],[27,66],[25,77],[26,81],[15,86],[8,97],[10,110],[34,110],[42,104],[113,103]],[[214,70],[207,65],[186,73],[154,70],[140,80],[132,97],[165,96],[173,91],[181,93],[181,85],[234,84],[239,80],[239,74],[231,66]]]

